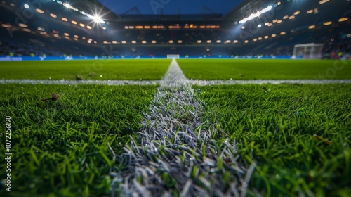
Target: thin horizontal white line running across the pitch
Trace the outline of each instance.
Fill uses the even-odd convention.
[[[164,80],[0,80],[0,84],[106,84],[106,85],[156,85]],[[230,84],[350,84],[351,80],[187,80],[192,85]]]

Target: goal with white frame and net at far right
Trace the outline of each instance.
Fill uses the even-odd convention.
[[[324,44],[306,43],[296,44],[293,47],[293,59],[320,59],[322,58],[322,50]]]

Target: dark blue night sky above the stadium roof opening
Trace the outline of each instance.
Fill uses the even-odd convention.
[[[98,0],[114,13],[125,13],[133,7],[138,7],[142,14],[199,14],[199,13],[226,13],[232,11],[243,0]],[[202,10],[203,7],[211,11]],[[135,14],[133,11],[131,14]]]

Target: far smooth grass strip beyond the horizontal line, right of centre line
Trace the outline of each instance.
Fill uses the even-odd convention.
[[[296,80],[351,79],[351,61],[326,60],[177,60],[188,79]]]

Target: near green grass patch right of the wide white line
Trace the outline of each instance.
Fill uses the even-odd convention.
[[[350,194],[351,84],[196,89],[202,118],[237,141],[243,163],[257,161],[249,196],[254,189],[263,196]]]

